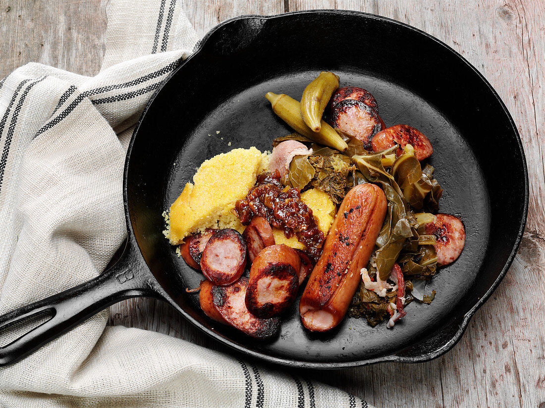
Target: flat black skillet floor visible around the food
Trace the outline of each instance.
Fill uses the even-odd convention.
[[[272,342],[250,340],[253,349],[284,358],[347,360],[395,351],[414,343],[433,330],[473,284],[488,242],[490,220],[485,181],[475,156],[456,127],[417,95],[395,84],[361,73],[336,73],[342,84],[361,86],[375,96],[386,124],[410,124],[429,137],[434,147],[429,163],[436,168],[435,176],[445,190],[440,209],[461,216],[467,228],[476,233],[468,234],[464,252],[456,263],[441,270],[428,285],[429,293],[432,290],[438,293],[432,305],[414,302],[407,307],[403,323],[394,330],[387,329],[385,324],[372,328],[365,319],[346,319],[334,332],[313,335],[302,328],[294,305],[283,319],[281,336]],[[288,93],[300,99],[306,84],[318,74],[319,71],[291,72],[271,78],[231,96],[210,111],[190,132],[175,159],[177,164],[171,167],[165,208],[174,202],[204,160],[234,148],[255,146],[261,151],[271,150],[272,139],[287,135],[291,130],[272,113],[265,93],[269,90]],[[189,287],[198,285],[201,273],[176,257],[174,248],[169,248],[169,260]],[[193,299],[198,308],[198,296],[193,295]],[[223,331],[222,328],[217,330]],[[248,341],[231,330],[225,332],[230,338],[239,338],[241,343]]]

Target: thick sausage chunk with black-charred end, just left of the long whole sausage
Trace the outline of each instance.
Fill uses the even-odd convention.
[[[264,248],[253,260],[246,307],[260,318],[278,316],[292,305],[299,289],[301,258],[287,245]]]

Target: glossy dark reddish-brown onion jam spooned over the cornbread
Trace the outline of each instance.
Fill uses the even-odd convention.
[[[259,174],[246,198],[235,204],[235,212],[243,225],[249,224],[255,215],[265,218],[272,227],[282,229],[287,238],[295,235],[314,261],[320,257],[324,233],[312,210],[302,202],[299,188],[284,187],[277,170]]]

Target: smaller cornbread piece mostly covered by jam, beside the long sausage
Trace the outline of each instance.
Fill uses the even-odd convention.
[[[301,200],[312,210],[312,214],[316,217],[318,228],[324,233],[324,236],[328,235],[331,223],[335,218],[335,203],[331,201],[328,194],[316,188],[311,188],[302,193]],[[295,236],[289,239],[286,238],[281,229],[272,228],[272,235],[274,235],[275,243],[283,243],[296,249],[306,249]]]

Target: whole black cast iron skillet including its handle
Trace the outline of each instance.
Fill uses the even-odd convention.
[[[205,159],[238,147],[268,150],[273,138],[290,133],[264,95],[299,99],[321,70],[334,71],[342,86],[370,90],[387,126],[409,124],[429,137],[429,163],[445,190],[440,210],[462,217],[465,249],[429,284],[428,291],[437,291],[433,303],[411,304],[393,330],[345,319],[329,333],[313,334],[302,328],[294,305],[280,336],[258,341],[208,319],[198,295],[185,292],[202,275],[175,255],[162,234],[161,213]],[[207,34],[138,121],[124,200],[129,238],[123,258],[87,283],[1,316],[0,327],[44,311],[52,318],[0,349],[0,364],[135,296],[165,300],[209,336],[271,362],[341,368],[430,360],[460,339],[511,264],[526,221],[528,174],[504,104],[451,48],[384,17],[304,11],[237,17]]]

